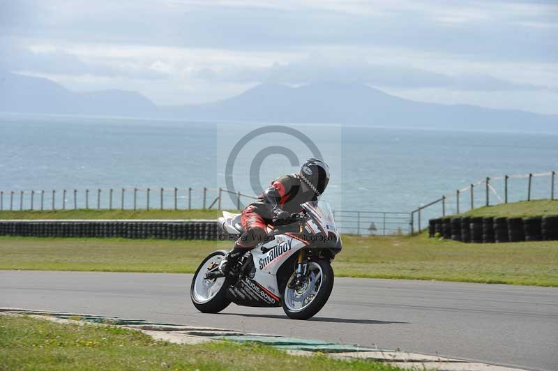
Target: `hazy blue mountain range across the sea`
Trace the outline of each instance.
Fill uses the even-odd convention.
[[[0,73],[0,112],[130,116],[190,121],[341,123],[386,128],[558,132],[558,116],[406,100],[365,84],[261,84],[213,103],[158,106],[123,90],[69,91],[41,77]]]

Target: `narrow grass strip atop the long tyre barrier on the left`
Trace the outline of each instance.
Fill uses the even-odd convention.
[[[234,212],[234,211],[232,211]],[[218,210],[55,210],[0,211],[1,219],[217,219]]]

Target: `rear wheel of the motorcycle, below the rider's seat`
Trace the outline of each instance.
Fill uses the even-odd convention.
[[[227,288],[229,278],[220,277],[207,280],[204,275],[210,269],[219,265],[227,252],[218,250],[211,252],[202,264],[199,264],[192,285],[190,286],[190,298],[195,308],[203,313],[218,313],[227,308],[231,301],[227,299]]]

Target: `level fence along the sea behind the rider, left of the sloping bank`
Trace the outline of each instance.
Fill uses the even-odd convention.
[[[239,210],[253,199],[256,197],[243,192],[207,187],[19,190],[0,191],[0,211]],[[347,210],[334,213],[344,234],[394,236],[410,232],[411,213]]]

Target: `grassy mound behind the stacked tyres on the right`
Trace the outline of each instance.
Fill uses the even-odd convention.
[[[527,218],[529,216],[558,215],[558,199],[537,199],[534,201],[512,202],[496,206],[484,206],[459,216],[506,216]]]

